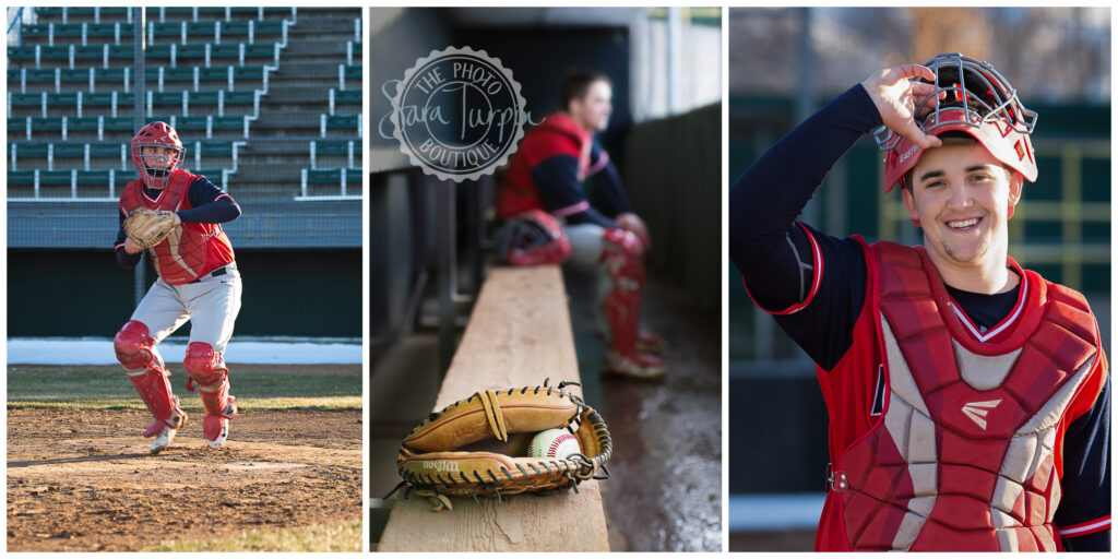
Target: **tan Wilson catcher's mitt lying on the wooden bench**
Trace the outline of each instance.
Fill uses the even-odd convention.
[[[569,385],[577,382],[549,387],[544,379],[537,387],[479,391],[432,414],[400,445],[396,467],[404,481],[392,493],[407,486],[405,496],[415,491],[429,498],[439,511],[452,508],[446,495],[476,500],[562,489],[577,492],[578,484],[586,480],[608,477],[605,463],[613,452],[609,430],[586,401],[563,391]],[[513,453],[518,444],[510,443],[510,434],[531,435],[551,428],[566,428],[582,452],[561,458],[503,453]],[[463,448],[475,443],[492,446],[494,438],[498,452]],[[604,477],[595,477],[599,468]]]

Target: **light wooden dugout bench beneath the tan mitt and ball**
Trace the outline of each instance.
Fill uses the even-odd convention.
[[[544,377],[552,386],[579,381],[559,267],[494,268],[434,410],[482,389],[537,386]],[[397,499],[377,550],[608,551],[598,482],[578,489],[546,498],[511,495],[501,503],[453,499],[453,511],[437,513],[424,498]]]

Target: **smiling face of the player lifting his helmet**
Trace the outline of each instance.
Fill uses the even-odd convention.
[[[1021,198],[1021,181],[978,142],[945,139],[942,146],[923,152],[901,197],[923,229],[934,262],[1004,263],[1010,208]]]

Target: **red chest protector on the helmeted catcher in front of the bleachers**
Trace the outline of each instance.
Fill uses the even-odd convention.
[[[141,179],[129,182],[121,193],[121,210],[127,214],[139,207],[170,211],[189,209],[192,206],[187,189],[196,178],[198,176],[189,171],[176,170],[155,200],[144,196]],[[182,224],[151,250],[155,272],[171,285],[193,282],[233,262],[233,245],[219,224]]]

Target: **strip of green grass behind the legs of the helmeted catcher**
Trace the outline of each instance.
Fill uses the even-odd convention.
[[[186,409],[198,407],[187,395],[187,375],[171,368],[171,386]],[[252,409],[361,409],[360,367],[236,367],[231,392]],[[8,368],[9,408],[142,409],[132,382],[120,367]]]

